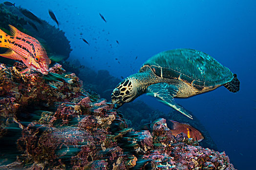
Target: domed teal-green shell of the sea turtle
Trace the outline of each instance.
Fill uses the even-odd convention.
[[[139,72],[148,67],[158,77],[179,79],[198,90],[223,85],[233,79],[229,68],[222,66],[210,55],[191,49],[160,52],[149,58]]]

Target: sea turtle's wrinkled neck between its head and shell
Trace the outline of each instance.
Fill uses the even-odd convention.
[[[146,93],[149,85],[157,83],[157,79],[155,75],[151,73],[151,70],[132,74],[128,78],[134,82],[134,85],[136,85],[136,88],[138,89],[137,96]]]

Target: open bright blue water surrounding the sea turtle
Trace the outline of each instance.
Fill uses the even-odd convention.
[[[19,5],[56,25],[48,15],[50,8],[71,41],[70,59],[94,70],[107,69],[119,78],[137,72],[160,51],[191,48],[212,55],[237,74],[240,91],[234,94],[220,87],[176,102],[202,122],[236,169],[254,167],[255,0],[17,0]],[[138,100],[164,112],[171,110],[146,95]]]

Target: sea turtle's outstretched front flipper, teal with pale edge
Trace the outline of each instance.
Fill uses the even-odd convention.
[[[178,105],[173,96],[175,96],[178,92],[178,88],[175,85],[169,85],[167,83],[157,83],[154,85],[150,85],[147,88],[147,92],[154,96],[161,99],[160,101],[171,106],[173,109],[179,111],[183,115],[193,119],[192,116],[186,111],[182,106]]]

